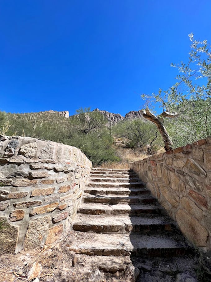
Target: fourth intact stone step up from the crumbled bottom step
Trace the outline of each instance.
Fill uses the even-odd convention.
[[[118,203],[130,203],[130,204],[153,204],[157,202],[157,199],[154,198],[152,195],[132,195],[132,196],[125,196],[125,195],[91,195],[91,194],[84,194],[83,202],[92,202],[92,203],[106,203],[109,205],[115,205]]]

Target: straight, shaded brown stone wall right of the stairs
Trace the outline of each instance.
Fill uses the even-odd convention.
[[[183,234],[211,250],[211,137],[131,163]]]

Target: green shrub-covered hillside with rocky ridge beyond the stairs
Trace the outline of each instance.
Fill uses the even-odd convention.
[[[107,162],[131,161],[144,152],[162,147],[158,138],[150,144],[156,129],[145,121],[141,111],[130,111],[125,117],[95,109],[79,110],[69,116],[68,111],[44,111],[23,114],[0,112],[1,134],[29,136],[52,140],[80,148],[99,166]],[[161,145],[159,145],[161,142]],[[153,148],[152,148],[153,147]],[[150,150],[149,150],[150,148]]]

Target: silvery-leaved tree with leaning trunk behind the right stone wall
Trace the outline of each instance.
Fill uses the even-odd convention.
[[[211,132],[211,46],[207,40],[196,41],[193,34],[189,34],[189,38],[191,51],[188,62],[171,64],[179,70],[177,82],[167,91],[159,89],[158,94],[142,95],[142,98],[151,98],[163,108],[163,112],[158,116],[146,108],[143,110],[143,116],[155,123],[167,151],[175,144],[184,145],[187,135],[189,141],[193,142],[207,137]],[[174,143],[164,126],[165,118],[168,118],[165,124],[172,133]],[[173,123],[169,121],[172,118]],[[173,132],[177,132],[177,135]]]

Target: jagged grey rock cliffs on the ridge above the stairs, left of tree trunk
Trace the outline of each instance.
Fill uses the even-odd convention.
[[[116,124],[117,122],[119,121],[124,121],[124,120],[134,120],[136,118],[143,118],[143,115],[142,115],[142,112],[141,110],[140,111],[130,111],[128,112],[125,117],[121,116],[120,114],[113,114],[113,113],[110,113],[108,111],[102,111],[102,110],[99,110],[98,108],[95,109],[94,111],[98,111],[100,112],[101,114],[103,114],[106,119],[113,125],[113,124]]]

